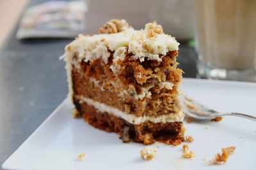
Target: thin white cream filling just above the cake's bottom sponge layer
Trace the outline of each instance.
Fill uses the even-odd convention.
[[[180,111],[179,113],[170,113],[168,115],[160,115],[160,116],[154,116],[154,117],[147,117],[147,116],[143,116],[143,117],[135,117],[134,115],[131,115],[129,113],[125,113],[123,111],[120,111],[116,108],[113,108],[111,106],[108,106],[106,104],[103,103],[99,103],[97,101],[93,101],[92,99],[88,99],[86,97],[80,97],[82,102],[85,102],[86,104],[89,104],[91,106],[93,106],[94,108],[96,108],[97,110],[99,110],[100,112],[108,112],[111,115],[114,115],[116,117],[120,117],[123,118],[124,120],[126,120],[127,122],[129,122],[130,124],[141,124],[143,122],[153,122],[153,123],[166,123],[166,122],[182,122],[183,118],[184,118],[184,113],[182,113],[182,111]]]

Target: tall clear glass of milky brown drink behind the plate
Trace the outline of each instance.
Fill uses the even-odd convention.
[[[202,78],[256,81],[256,1],[195,0]]]

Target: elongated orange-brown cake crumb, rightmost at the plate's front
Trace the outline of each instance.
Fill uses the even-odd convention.
[[[234,153],[235,150],[236,150],[236,146],[222,148],[221,149],[222,153],[217,153],[217,155],[215,155],[214,159],[211,160],[211,164],[223,164],[223,163],[227,162],[228,157],[232,153]]]

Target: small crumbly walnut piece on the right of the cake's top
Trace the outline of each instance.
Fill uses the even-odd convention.
[[[145,25],[145,31],[147,32],[147,38],[154,38],[157,34],[163,34],[163,27],[154,20],[152,23]]]

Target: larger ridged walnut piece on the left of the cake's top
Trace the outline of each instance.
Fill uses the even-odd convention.
[[[113,34],[117,32],[125,31],[128,29],[129,24],[126,20],[109,20],[103,27],[99,29],[100,34]]]

